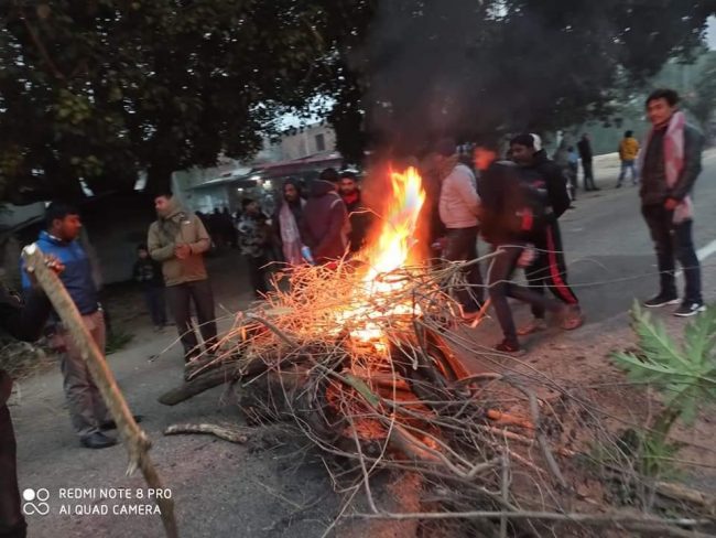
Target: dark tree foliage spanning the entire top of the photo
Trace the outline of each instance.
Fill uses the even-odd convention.
[[[715,0],[7,0],[0,198],[152,190],[251,155],[316,96],[338,149],[549,130],[609,114],[699,43]]]

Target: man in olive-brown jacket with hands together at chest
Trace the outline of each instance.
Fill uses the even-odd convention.
[[[204,252],[211,241],[198,217],[181,207],[171,193],[158,195],[154,207],[159,218],[149,227],[147,245],[150,256],[162,262],[169,303],[188,363],[202,353],[192,326],[192,300],[205,348],[209,351],[216,343],[214,294],[204,266]]]

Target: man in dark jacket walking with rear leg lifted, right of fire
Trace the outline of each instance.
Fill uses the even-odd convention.
[[[543,234],[546,214],[539,190],[523,181],[514,163],[496,162],[496,148],[489,144],[475,150],[475,166],[480,171],[480,234],[493,248],[487,270],[488,292],[503,334],[502,342],[495,348],[517,353],[520,343],[508,297],[530,303],[543,313],[554,313],[563,326],[569,308],[510,281],[517,267],[528,262],[529,250],[525,246]]]

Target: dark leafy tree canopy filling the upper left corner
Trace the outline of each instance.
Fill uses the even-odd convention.
[[[0,8],[0,197],[169,187],[253,153],[311,100],[312,2],[91,0]]]

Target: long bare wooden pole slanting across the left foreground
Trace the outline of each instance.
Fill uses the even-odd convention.
[[[45,256],[35,244],[22,250],[22,259],[29,272],[37,279],[37,283],[45,291],[50,302],[62,319],[63,324],[75,341],[82,357],[87,362],[89,373],[97,384],[109,412],[117,423],[127,454],[129,466],[127,474],[132,474],[137,467],[141,469],[147,484],[154,491],[161,491],[162,481],[149,455],[152,443],[144,431],[137,424],[129,406],[117,385],[112,370],[107,365],[104,349],[99,349],[95,338],[83,322],[82,315],[74,301],[67,293],[64,284],[55,272],[45,265]],[[174,502],[171,498],[155,496],[156,504],[162,514],[162,523],[169,538],[178,538],[176,518],[174,517]],[[163,497],[163,496],[162,496]]]

